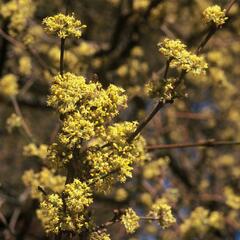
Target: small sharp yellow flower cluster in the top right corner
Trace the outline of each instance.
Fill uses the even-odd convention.
[[[214,22],[217,26],[223,25],[228,17],[225,15],[226,10],[222,10],[220,6],[214,5],[203,11],[204,22]]]

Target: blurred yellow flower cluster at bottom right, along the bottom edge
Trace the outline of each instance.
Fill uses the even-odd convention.
[[[194,238],[203,236],[211,228],[222,229],[224,218],[222,213],[209,210],[203,207],[197,207],[180,226],[180,231],[185,237]]]

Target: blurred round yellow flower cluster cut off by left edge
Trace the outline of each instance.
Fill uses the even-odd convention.
[[[0,94],[6,97],[18,94],[17,77],[14,74],[6,74],[0,79]]]

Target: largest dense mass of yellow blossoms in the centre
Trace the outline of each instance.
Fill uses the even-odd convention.
[[[124,90],[115,85],[105,90],[100,83],[87,83],[84,77],[71,73],[55,77],[48,104],[59,112],[63,121],[58,142],[49,148],[48,159],[55,167],[66,165],[74,157],[72,150],[82,151],[85,143],[81,175],[90,182],[99,179],[97,189],[109,187],[113,179],[125,181],[131,176],[131,164],[146,158],[142,137],[127,143],[137,123],[108,125],[119,108],[126,107],[127,98],[123,93]],[[114,170],[119,171],[117,178],[109,176],[101,180],[102,175]]]

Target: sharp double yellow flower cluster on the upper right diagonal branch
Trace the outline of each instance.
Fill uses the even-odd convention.
[[[205,74],[208,65],[204,58],[187,51],[187,46],[180,40],[166,38],[158,44],[158,47],[159,51],[171,60],[171,67],[191,72],[194,75]]]

